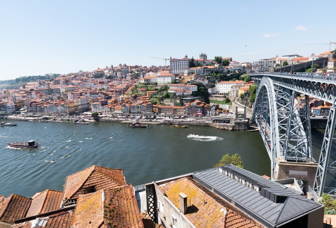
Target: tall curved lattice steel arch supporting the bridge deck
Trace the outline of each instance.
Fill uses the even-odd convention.
[[[258,83],[252,121],[255,119],[270,157],[272,179],[276,157],[312,161],[309,106],[305,105],[309,103],[308,96],[305,99],[296,96],[296,92],[273,83],[267,76]],[[302,108],[303,112],[299,113],[297,107]],[[266,133],[270,135],[270,143],[267,142]]]

